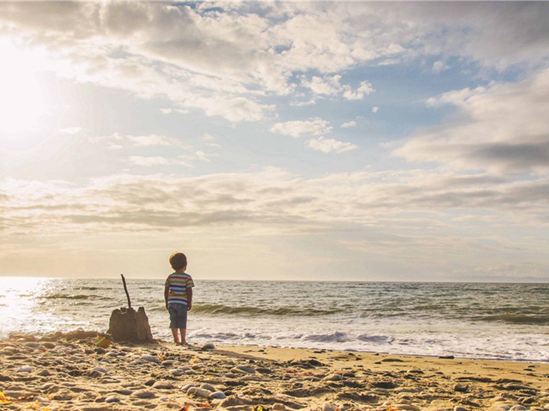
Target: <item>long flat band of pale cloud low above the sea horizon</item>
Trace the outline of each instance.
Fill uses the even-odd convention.
[[[140,166],[174,161],[139,156],[132,160]],[[51,227],[67,232],[187,227],[207,225],[214,216],[217,225],[240,222],[303,229],[332,224],[368,227],[400,219],[391,223],[393,229],[407,232],[413,219],[401,215],[417,213],[423,220],[411,232],[442,224],[441,235],[452,225],[484,227],[491,235],[500,232],[502,224],[528,232],[528,227],[549,223],[548,177],[515,182],[487,174],[410,170],[307,179],[263,169],[201,177],[116,175],[81,187],[4,179],[2,187],[0,212],[5,230],[14,233],[47,233]],[[87,225],[78,228],[77,222]],[[542,245],[540,240],[535,247]]]

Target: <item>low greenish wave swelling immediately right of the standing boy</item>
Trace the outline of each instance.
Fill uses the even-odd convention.
[[[253,306],[226,306],[224,304],[194,304],[193,312],[200,314],[241,314],[245,316],[275,315],[275,316],[324,316],[337,314],[342,310],[320,310],[318,308],[303,307],[272,307],[261,308]]]

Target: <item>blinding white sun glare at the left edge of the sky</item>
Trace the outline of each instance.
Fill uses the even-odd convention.
[[[15,138],[36,129],[47,114],[47,104],[30,51],[0,38],[0,59],[0,132]]]

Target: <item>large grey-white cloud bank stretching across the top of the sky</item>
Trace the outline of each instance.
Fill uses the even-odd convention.
[[[0,35],[40,51],[40,68],[60,77],[238,123],[269,119],[269,97],[296,97],[298,83],[362,99],[371,84],[353,88],[340,73],[364,64],[434,56],[437,72],[459,56],[500,70],[539,66],[548,12],[544,2],[1,2]]]

